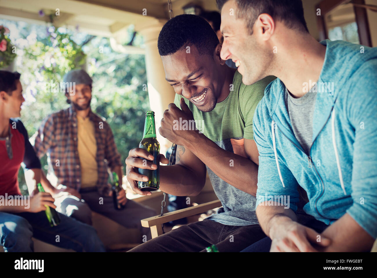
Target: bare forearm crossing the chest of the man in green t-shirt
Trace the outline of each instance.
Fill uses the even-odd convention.
[[[258,166],[253,161],[220,148],[204,134],[187,142],[185,147],[223,181],[253,196],[256,195]]]

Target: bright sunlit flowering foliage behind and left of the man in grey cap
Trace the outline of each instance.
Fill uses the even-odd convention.
[[[69,33],[54,31],[23,49],[21,62],[21,80],[24,87],[27,86],[26,107],[21,118],[32,134],[44,117],[66,108],[66,97],[57,84],[66,72],[83,66],[86,55],[81,46],[70,39]]]

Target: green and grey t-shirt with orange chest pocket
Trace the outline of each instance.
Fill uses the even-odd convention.
[[[216,103],[212,111],[202,112],[187,99],[185,103],[192,111],[199,131],[224,150],[247,157],[244,138],[254,140],[254,111],[264,96],[266,86],[274,79],[276,77],[268,76],[253,85],[245,85],[242,83],[242,75],[236,71],[228,97]],[[175,105],[179,108],[181,98],[181,95],[176,94],[174,99]],[[207,171],[213,189],[223,206],[208,219],[224,225],[257,224],[255,196],[223,181],[208,167]]]

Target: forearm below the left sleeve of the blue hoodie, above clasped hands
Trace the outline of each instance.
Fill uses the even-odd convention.
[[[274,229],[280,222],[297,221],[297,216],[290,208],[267,204],[267,201],[259,204],[256,208],[256,215],[263,232],[272,239]]]

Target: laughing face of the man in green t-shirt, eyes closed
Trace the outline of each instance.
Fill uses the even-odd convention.
[[[219,49],[220,46],[216,47],[215,53],[218,54],[213,57],[200,56],[195,45],[190,45],[190,53],[183,48],[174,54],[161,56],[166,80],[175,93],[190,100],[203,112],[213,110],[221,95],[219,73],[225,61],[219,58]]]

